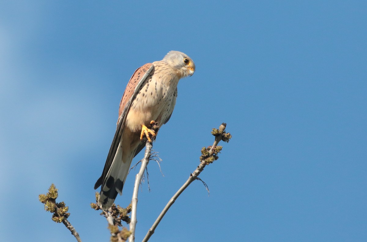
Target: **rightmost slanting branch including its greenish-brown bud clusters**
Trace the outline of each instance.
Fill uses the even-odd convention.
[[[218,129],[212,130],[211,133],[212,135],[215,136],[213,145],[210,148],[204,147],[201,150],[202,155],[200,156],[199,166],[197,166],[196,170],[192,174],[190,174],[187,181],[181,186],[180,189],[178,189],[178,191],[174,194],[174,196],[170,199],[170,201],[168,201],[167,205],[163,208],[162,212],[160,213],[156,221],[153,223],[153,226],[148,230],[147,234],[145,235],[143,239],[143,242],[146,242],[149,240],[149,238],[152,236],[155,229],[157,228],[158,224],[162,220],[163,216],[167,213],[168,209],[170,209],[172,204],[174,204],[178,196],[191,184],[191,182],[195,181],[196,179],[200,179],[198,178],[198,175],[201,173],[201,171],[204,170],[204,167],[212,163],[214,160],[218,159],[218,153],[221,151],[222,147],[217,146],[217,144],[221,140],[228,142],[229,139],[232,137],[229,133],[225,132],[225,128],[226,128],[226,124],[223,123],[219,126],[219,130]],[[206,184],[204,183],[204,185]]]

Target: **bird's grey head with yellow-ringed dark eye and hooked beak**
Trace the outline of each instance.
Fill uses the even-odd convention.
[[[195,72],[195,63],[185,53],[171,50],[163,58],[163,61],[170,65],[180,78],[192,76]]]

